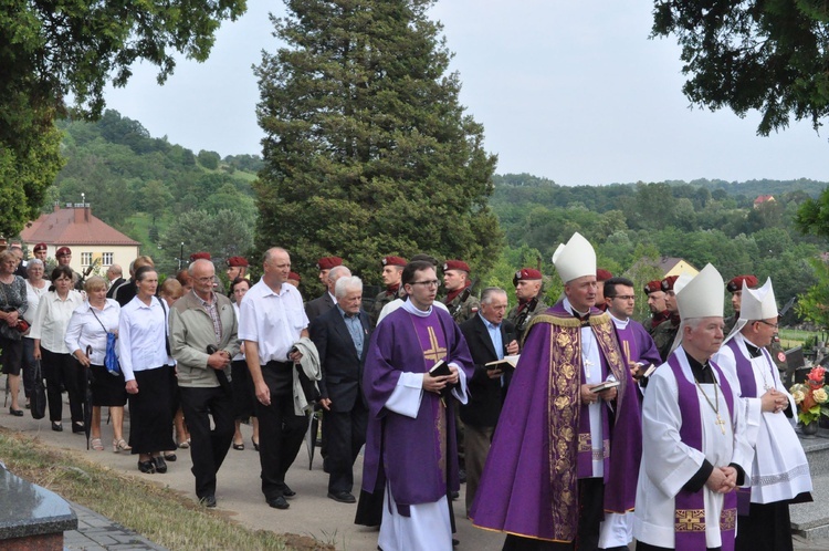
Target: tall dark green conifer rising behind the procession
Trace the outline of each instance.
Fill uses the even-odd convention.
[[[287,43],[255,69],[265,131],[258,248],[281,245],[313,280],[346,259],[370,282],[385,254],[431,252],[484,270],[501,231],[496,158],[458,101],[433,0],[286,0]]]

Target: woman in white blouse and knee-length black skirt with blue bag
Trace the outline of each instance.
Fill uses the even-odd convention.
[[[90,370],[92,389],[92,449],[102,451],[101,408],[109,408],[113,419],[113,451],[130,449],[124,440],[124,405],[127,391],[123,373],[109,373],[104,366],[108,333],[118,333],[120,306],[115,299],[106,298],[106,281],[93,276],[84,285],[86,302],[72,313],[66,328],[66,349],[75,360]],[[86,352],[92,354],[87,355]]]

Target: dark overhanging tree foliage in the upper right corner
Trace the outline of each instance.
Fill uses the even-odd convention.
[[[829,4],[821,0],[746,2],[655,0],[653,35],[682,46],[683,86],[695,104],[758,110],[757,133],[829,115]]]

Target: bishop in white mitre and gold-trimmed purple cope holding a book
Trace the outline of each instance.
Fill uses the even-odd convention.
[[[597,549],[605,511],[634,501],[637,389],[595,308],[596,253],[575,233],[553,263],[565,298],[529,325],[470,513],[507,533],[504,550]],[[592,391],[606,382],[619,386]]]

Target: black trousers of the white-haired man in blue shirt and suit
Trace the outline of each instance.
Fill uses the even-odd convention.
[[[350,492],[354,489],[354,461],[366,444],[368,409],[358,397],[350,412],[323,412],[323,426],[328,439],[325,457],[329,472],[328,491]]]

